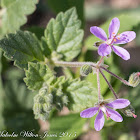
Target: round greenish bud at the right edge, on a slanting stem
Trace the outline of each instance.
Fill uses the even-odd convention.
[[[132,87],[136,87],[140,83],[140,72],[132,73],[129,77],[129,84]]]

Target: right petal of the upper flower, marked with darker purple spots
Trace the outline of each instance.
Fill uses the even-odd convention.
[[[134,31],[126,31],[116,36],[113,44],[125,44],[132,41],[136,37],[136,33]]]

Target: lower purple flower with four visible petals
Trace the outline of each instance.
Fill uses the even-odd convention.
[[[130,104],[129,100],[127,99],[116,99],[110,103],[101,102],[97,105],[97,107],[88,108],[80,113],[82,118],[91,118],[97,112],[98,115],[94,122],[94,127],[96,131],[100,131],[104,126],[104,113],[106,114],[107,118],[111,118],[113,121],[122,122],[122,116],[115,110],[111,109],[122,109],[127,107]]]

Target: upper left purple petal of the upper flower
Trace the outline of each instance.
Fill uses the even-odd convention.
[[[106,33],[100,27],[97,27],[97,26],[90,27],[90,32],[94,34],[96,37],[100,38],[101,40],[104,40],[104,41],[107,40]]]

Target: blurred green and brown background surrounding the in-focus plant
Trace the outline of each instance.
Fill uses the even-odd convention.
[[[27,23],[19,28],[35,33],[40,39],[44,35],[44,29],[49,20],[55,18],[59,12],[64,12],[73,6],[77,8],[79,19],[82,21],[82,28],[85,31],[82,55],[77,57],[78,61],[98,60],[97,48],[93,47],[98,39],[90,33],[89,28],[96,25],[107,32],[111,19],[118,17],[121,22],[119,32],[133,30],[137,37],[134,41],[123,46],[130,52],[131,59],[129,61],[124,61],[112,54],[110,60],[106,60],[106,63],[110,65],[109,69],[112,72],[124,79],[128,79],[131,73],[140,71],[140,0],[39,0],[36,10],[27,16]],[[2,25],[1,28],[3,28]],[[7,33],[10,33],[10,31]],[[1,133],[3,130],[9,133],[20,133],[27,130],[40,135],[48,132],[48,136],[44,140],[140,140],[140,86],[136,88],[127,87],[106,74],[118,95],[131,101],[138,116],[136,119],[125,117],[122,114],[124,118],[122,123],[106,120],[104,128],[100,132],[96,132],[94,130],[94,117],[82,122],[83,118],[80,118],[79,113],[73,115],[64,107],[61,112],[53,110],[50,119],[44,122],[34,119],[33,97],[37,93],[27,89],[23,82],[24,71],[13,66],[13,62],[7,60],[2,52],[0,58]],[[79,74],[74,74],[74,77],[78,76]],[[92,76],[86,78],[87,81],[95,85],[93,79]],[[108,86],[102,80],[103,97],[105,99],[112,98]],[[80,121],[82,125],[78,124]],[[82,129],[79,130],[79,127]],[[62,134],[63,132],[65,134]],[[75,134],[75,137],[63,137],[67,132],[72,133],[72,135]],[[51,136],[56,133],[62,135],[62,137]],[[12,138],[0,137],[0,140],[9,139]],[[38,140],[39,138],[18,137],[13,139]]]

